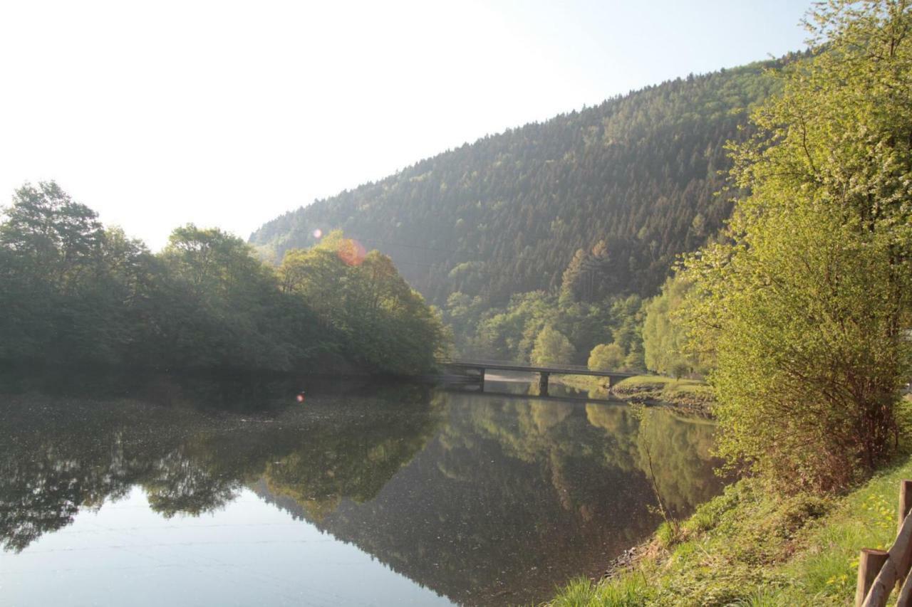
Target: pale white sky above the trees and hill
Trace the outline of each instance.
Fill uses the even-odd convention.
[[[803,47],[810,0],[0,2],[0,204],[153,249],[663,79]]]

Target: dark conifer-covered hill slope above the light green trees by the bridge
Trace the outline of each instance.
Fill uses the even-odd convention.
[[[679,78],[479,139],[285,213],[250,241],[278,262],[315,230],[342,229],[438,304],[457,291],[503,304],[553,290],[580,249],[597,274],[592,299],[653,294],[675,256],[727,218],[714,195],[724,144],[775,86],[771,66]]]

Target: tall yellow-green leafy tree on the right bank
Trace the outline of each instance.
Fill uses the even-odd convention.
[[[912,11],[835,1],[818,55],[733,147],[731,242],[690,258],[715,350],[720,448],[787,488],[844,487],[889,455],[912,275]]]

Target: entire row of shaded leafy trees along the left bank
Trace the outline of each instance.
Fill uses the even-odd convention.
[[[152,254],[54,182],[0,216],[0,362],[417,373],[436,314],[389,258],[333,234],[281,268],[186,225]]]

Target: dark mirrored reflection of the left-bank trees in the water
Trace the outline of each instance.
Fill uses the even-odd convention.
[[[23,550],[134,486],[166,517],[219,509],[260,478],[316,496],[316,510],[370,499],[433,435],[426,392],[316,397],[252,419],[107,397],[3,396],[0,545]]]

